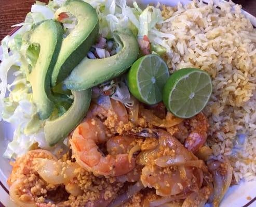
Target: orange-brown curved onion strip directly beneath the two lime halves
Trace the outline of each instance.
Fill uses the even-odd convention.
[[[140,112],[142,117],[144,117],[144,119],[146,120],[146,122],[149,122],[152,125],[158,126],[158,127],[168,128],[168,127],[172,127],[177,124],[180,124],[183,121],[183,119],[178,117],[174,117],[173,119],[170,119],[170,120],[166,120],[166,119],[161,120],[156,115],[154,115],[150,110],[147,110],[147,109],[141,109]]]

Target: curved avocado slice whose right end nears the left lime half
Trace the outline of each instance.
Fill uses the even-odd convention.
[[[64,80],[67,88],[75,91],[111,80],[125,72],[136,61],[139,46],[130,29],[114,32],[114,39],[123,46],[117,54],[103,59],[84,58]]]

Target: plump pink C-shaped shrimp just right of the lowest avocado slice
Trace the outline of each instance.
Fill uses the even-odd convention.
[[[112,138],[119,140],[119,138]],[[99,175],[118,176],[130,172],[135,167],[135,159],[129,162],[128,154],[113,155],[115,150],[109,151],[112,154],[104,156],[97,144],[107,141],[104,125],[94,117],[86,119],[78,125],[70,140],[74,156],[78,164],[86,170]],[[112,145],[109,141],[109,146]],[[118,148],[118,152],[120,147]]]

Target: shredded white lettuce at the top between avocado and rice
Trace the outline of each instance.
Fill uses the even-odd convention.
[[[157,29],[157,25],[160,27],[161,24],[165,23],[159,8],[147,6],[142,10],[136,2],[133,2],[132,8],[127,6],[126,0],[86,2],[97,10],[100,20],[100,33],[103,37],[111,37],[118,28],[128,27],[138,38],[143,38],[145,35],[151,43],[165,48],[167,53],[171,52],[170,44],[167,41],[172,41],[175,36],[160,32]]]

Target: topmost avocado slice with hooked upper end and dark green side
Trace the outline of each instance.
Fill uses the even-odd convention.
[[[81,0],[68,0],[55,13],[69,12],[77,18],[72,32],[63,39],[60,54],[52,72],[51,85],[63,81],[71,70],[83,60],[99,33],[99,20],[96,10]]]

